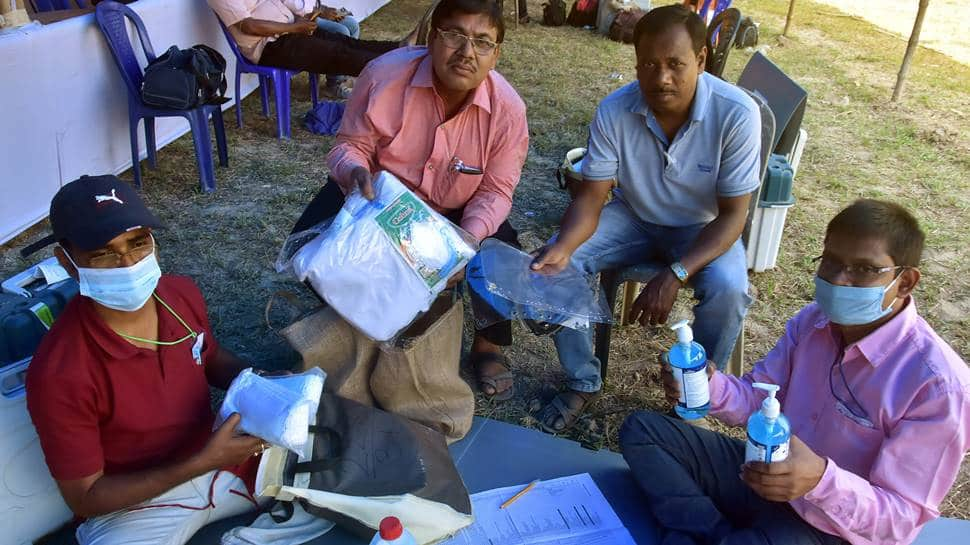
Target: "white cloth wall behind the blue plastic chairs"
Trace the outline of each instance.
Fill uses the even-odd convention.
[[[363,19],[388,1],[324,3],[346,7]],[[236,60],[205,0],[139,0],[129,6],[144,21],[156,54],[173,44],[185,48],[204,43],[218,49],[228,62],[226,94],[235,96]],[[135,50],[141,54],[137,43]],[[255,76],[244,75],[242,96],[256,84]],[[0,34],[0,244],[44,219],[51,197],[63,184],[82,174],[118,174],[131,167],[127,101],[94,14]],[[225,116],[225,122],[226,130],[233,130],[233,116]],[[158,147],[188,130],[181,118],[157,119]],[[164,154],[159,161],[165,161]]]

